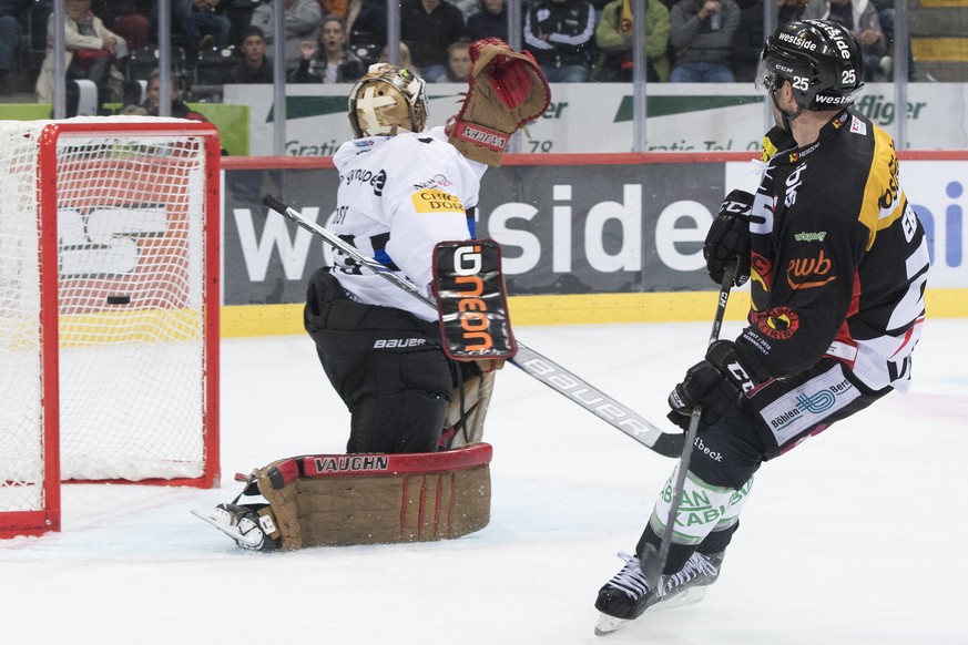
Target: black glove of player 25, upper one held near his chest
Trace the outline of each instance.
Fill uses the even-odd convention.
[[[750,279],[750,219],[753,209],[753,195],[746,191],[731,191],[720,206],[720,213],[713,219],[706,240],[703,244],[703,257],[706,258],[706,270],[717,285],[723,284],[726,265],[738,258],[740,268],[736,273],[735,286]]]

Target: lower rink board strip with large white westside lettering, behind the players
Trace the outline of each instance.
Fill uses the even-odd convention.
[[[512,297],[713,291],[702,258],[705,232],[723,195],[758,176],[748,155],[720,157],[509,158],[485,175],[478,234],[502,245]],[[267,215],[262,197],[279,196],[323,224],[338,174],[328,158],[258,167],[269,161],[224,161],[225,305],[302,303],[309,275],[328,262],[322,240]],[[901,181],[928,232],[929,287],[968,287],[968,160],[903,158]]]

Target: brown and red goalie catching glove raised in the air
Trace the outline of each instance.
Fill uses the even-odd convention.
[[[511,135],[548,110],[551,91],[534,57],[498,38],[472,42],[470,61],[467,95],[447,124],[448,141],[467,158],[499,166]]]

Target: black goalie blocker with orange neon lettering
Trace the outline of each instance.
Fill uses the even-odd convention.
[[[434,293],[447,356],[455,360],[513,358],[518,348],[508,318],[498,243],[439,243],[434,248]]]

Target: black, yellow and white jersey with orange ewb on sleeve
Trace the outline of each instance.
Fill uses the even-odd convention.
[[[906,389],[929,260],[890,136],[844,110],[772,155],[753,217],[741,354],[772,378],[831,356],[874,390]]]

